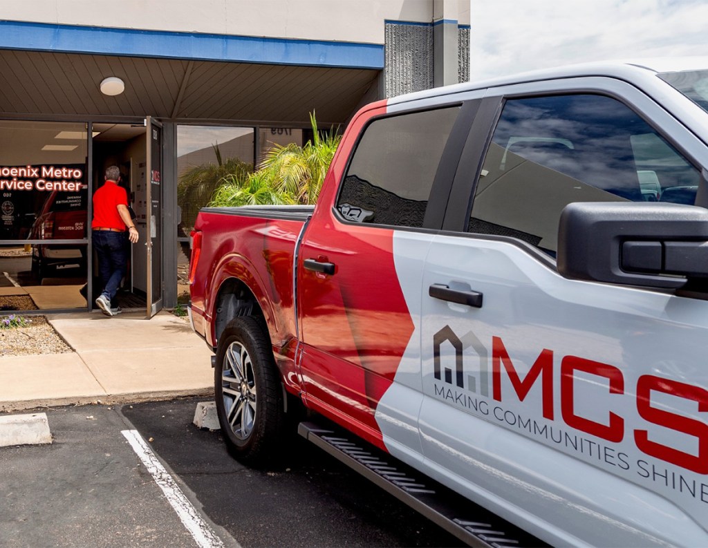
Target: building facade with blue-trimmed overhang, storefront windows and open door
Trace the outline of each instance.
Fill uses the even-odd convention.
[[[91,310],[91,196],[118,165],[139,244],[119,299],[187,290],[219,173],[303,144],[309,113],[469,77],[469,0],[38,0],[0,16],[0,312]]]

